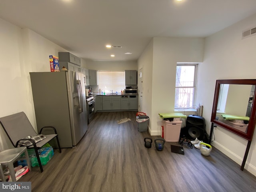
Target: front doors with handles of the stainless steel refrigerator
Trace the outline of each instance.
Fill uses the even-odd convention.
[[[76,146],[86,133],[87,118],[86,118],[86,101],[84,88],[84,75],[78,72],[69,71],[70,92],[72,98],[70,103],[70,119],[72,144]]]

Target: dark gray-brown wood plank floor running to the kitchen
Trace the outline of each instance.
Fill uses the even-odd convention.
[[[122,118],[131,121],[117,124]],[[100,112],[75,148],[64,148],[19,181],[33,192],[255,192],[256,177],[213,148],[210,156],[183,145],[185,155],[144,147],[136,112]]]

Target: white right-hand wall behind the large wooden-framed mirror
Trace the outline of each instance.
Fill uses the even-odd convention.
[[[210,132],[210,118],[217,79],[256,78],[256,36],[242,40],[242,31],[255,27],[256,15],[246,18],[205,40],[204,62],[198,75],[197,100],[204,106],[206,129]],[[235,96],[234,96],[235,97]],[[247,140],[217,127],[213,145],[238,164],[242,164]],[[252,140],[245,169],[256,175],[256,134]]]

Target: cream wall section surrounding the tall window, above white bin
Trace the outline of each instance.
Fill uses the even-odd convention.
[[[203,52],[203,38],[154,38],[150,116],[152,135],[161,134],[163,120],[158,114],[174,112],[177,62],[202,62]]]

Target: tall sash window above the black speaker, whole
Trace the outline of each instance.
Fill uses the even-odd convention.
[[[177,64],[175,109],[195,108],[198,64]]]

